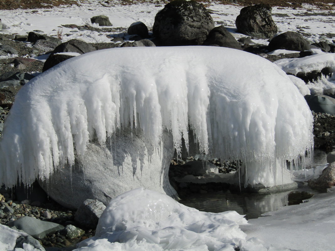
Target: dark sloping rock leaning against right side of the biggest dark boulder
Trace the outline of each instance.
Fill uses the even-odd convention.
[[[203,45],[218,45],[220,47],[242,50],[242,47],[238,41],[236,41],[233,35],[231,35],[223,25],[212,29]]]

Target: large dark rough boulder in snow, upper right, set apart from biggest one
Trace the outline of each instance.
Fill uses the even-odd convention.
[[[271,16],[272,8],[268,4],[256,4],[241,9],[236,18],[236,27],[239,32],[258,38],[273,37],[278,28]]]

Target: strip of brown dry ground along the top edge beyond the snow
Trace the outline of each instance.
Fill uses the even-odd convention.
[[[86,2],[89,0],[85,0]],[[296,0],[292,1],[292,3],[288,3],[284,0],[218,0],[218,1],[210,1],[210,0],[196,0],[197,2],[203,3],[211,3],[218,2],[222,4],[232,4],[237,3],[242,6],[265,3],[270,4],[271,6],[282,6],[282,7],[292,7],[299,8],[303,3],[316,5],[323,9],[332,9],[335,7],[335,0],[322,0],[322,1],[314,1],[314,0]],[[36,8],[51,8],[53,6],[59,5],[72,5],[77,4],[77,0],[0,0],[0,9],[36,9]],[[113,0],[102,0],[104,2],[113,2]],[[153,2],[156,4],[165,4],[169,1],[166,0],[119,0],[117,1],[120,4],[134,4],[138,2]]]

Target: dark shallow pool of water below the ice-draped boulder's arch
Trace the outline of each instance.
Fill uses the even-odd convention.
[[[246,219],[254,219],[262,214],[276,211],[282,206],[302,203],[317,191],[308,187],[298,188],[291,191],[258,194],[258,193],[224,193],[194,194],[180,203],[194,207],[200,211],[219,213],[224,211],[236,211],[246,215]]]

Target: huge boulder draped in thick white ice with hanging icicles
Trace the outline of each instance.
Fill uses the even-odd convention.
[[[197,46],[100,50],[22,87],[4,124],[0,182],[49,180],[49,194],[64,193],[72,207],[76,196],[107,203],[139,186],[173,196],[167,172],[190,126],[201,153],[240,159],[242,183],[270,186],[277,163],[312,146],[312,121],[286,74],[259,56]]]

